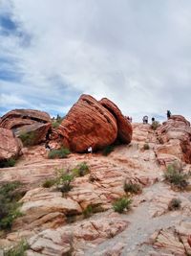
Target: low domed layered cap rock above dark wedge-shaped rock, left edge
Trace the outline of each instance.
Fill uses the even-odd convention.
[[[19,128],[36,123],[51,123],[48,113],[33,109],[14,109],[2,116],[0,128]]]

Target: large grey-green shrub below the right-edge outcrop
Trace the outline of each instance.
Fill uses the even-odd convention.
[[[179,189],[184,189],[189,184],[187,181],[188,175],[183,174],[176,164],[171,164],[167,167],[164,173],[164,179]]]

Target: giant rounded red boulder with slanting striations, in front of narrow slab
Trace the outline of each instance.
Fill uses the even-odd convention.
[[[72,151],[104,148],[117,139],[117,120],[93,97],[82,95],[58,128],[62,143]]]

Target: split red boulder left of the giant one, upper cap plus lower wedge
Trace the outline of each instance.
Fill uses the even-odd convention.
[[[51,117],[39,110],[15,109],[2,117],[0,128],[11,129],[21,139],[25,137],[26,146],[36,145],[45,139],[51,128]]]

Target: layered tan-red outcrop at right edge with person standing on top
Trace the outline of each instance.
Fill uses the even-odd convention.
[[[184,117],[172,116],[158,128],[157,132],[160,145],[156,146],[155,151],[158,158],[161,158],[161,154],[166,154],[186,163],[191,162],[191,128]]]

